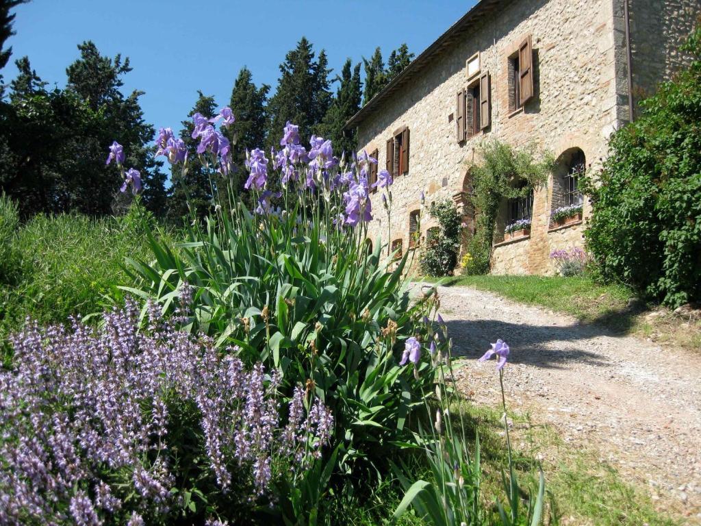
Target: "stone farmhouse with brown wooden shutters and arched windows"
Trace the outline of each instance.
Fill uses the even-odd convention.
[[[372,194],[369,237],[386,240],[390,227],[393,247],[406,250],[421,191],[427,205],[449,198],[462,209],[480,141],[533,142],[556,169],[531,196],[502,203],[491,271],[552,274],[552,250],[583,245],[580,173],[601,166],[631,107],[686,60],[677,48],[700,12],[701,0],[479,1],[346,124],[394,175],[391,224]],[[552,210],[578,203],[581,219],[552,222]],[[468,232],[473,216],[465,207]],[[530,232],[505,236],[517,220],[531,220]],[[424,213],[418,234],[432,227]]]

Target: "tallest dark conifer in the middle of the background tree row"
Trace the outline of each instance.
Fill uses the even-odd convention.
[[[280,81],[275,95],[268,104],[268,130],[266,151],[280,147],[279,140],[287,121],[299,126],[299,135],[307,143],[322,123],[331,102],[328,60],[321,50],[314,60],[313,46],[304,36],[297,48],[285,55],[280,64]]]

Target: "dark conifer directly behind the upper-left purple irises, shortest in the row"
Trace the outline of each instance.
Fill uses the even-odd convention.
[[[200,113],[211,119],[215,116],[217,103],[214,97],[204,95],[198,91],[197,101],[188,116]],[[191,212],[197,217],[205,217],[210,210],[212,203],[212,184],[217,181],[210,179],[210,170],[207,170],[200,162],[197,154],[199,139],[192,138],[192,131],[195,128],[191,119],[182,121],[180,138],[187,147],[187,171],[182,174],[182,166],[176,166],[172,173],[172,187],[168,195],[168,213],[170,222],[177,224],[183,217],[188,217]]]

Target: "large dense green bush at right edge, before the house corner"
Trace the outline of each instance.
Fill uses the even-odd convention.
[[[701,28],[692,62],[641,102],[590,177],[587,246],[606,278],[670,306],[701,299]]]

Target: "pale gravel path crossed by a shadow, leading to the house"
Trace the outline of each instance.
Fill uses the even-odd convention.
[[[479,358],[498,337],[508,342],[511,409],[551,424],[573,447],[596,448],[660,508],[672,499],[701,524],[701,355],[662,351],[489,292],[438,293],[456,356]],[[496,405],[494,369],[494,360],[466,360],[458,383],[473,400]]]

